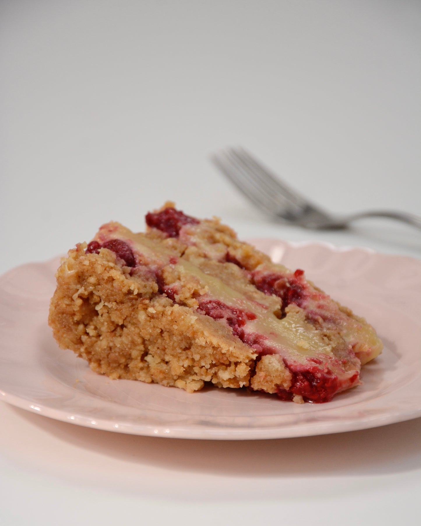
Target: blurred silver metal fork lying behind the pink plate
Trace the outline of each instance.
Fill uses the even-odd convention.
[[[355,219],[387,217],[421,229],[421,217],[393,210],[368,210],[336,217],[289,188],[243,148],[228,148],[212,156],[213,163],[254,205],[270,216],[305,228],[346,228]]]

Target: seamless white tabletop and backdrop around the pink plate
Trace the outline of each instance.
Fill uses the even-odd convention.
[[[166,199],[240,237],[421,258],[389,220],[275,225],[209,163],[249,148],[326,208],[421,213],[421,4],[4,1],[0,272]],[[421,348],[421,342],[420,342]],[[330,436],[127,436],[0,404],[0,523],[419,524],[421,419]]]

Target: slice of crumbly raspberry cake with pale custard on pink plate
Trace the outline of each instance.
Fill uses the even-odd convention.
[[[381,352],[363,318],[217,219],[167,203],[146,223],[145,234],[103,225],[57,271],[49,325],[92,370],[188,392],[209,382],[327,402]]]

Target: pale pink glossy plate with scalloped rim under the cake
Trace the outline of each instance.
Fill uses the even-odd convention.
[[[385,348],[364,384],[326,404],[259,393],[176,388],[93,373],[47,325],[59,258],[0,278],[0,399],[44,416],[122,433],[195,439],[302,437],[421,416],[421,261],[364,249],[255,240],[258,248],[365,316]]]

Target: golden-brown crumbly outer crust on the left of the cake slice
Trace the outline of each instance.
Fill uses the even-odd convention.
[[[290,387],[282,359],[263,356],[256,367],[254,349],[228,327],[157,295],[156,282],[131,276],[114,252],[85,254],[85,248],[69,251],[58,269],[48,321],[59,346],[93,371],[187,392],[205,382],[266,392]]]

